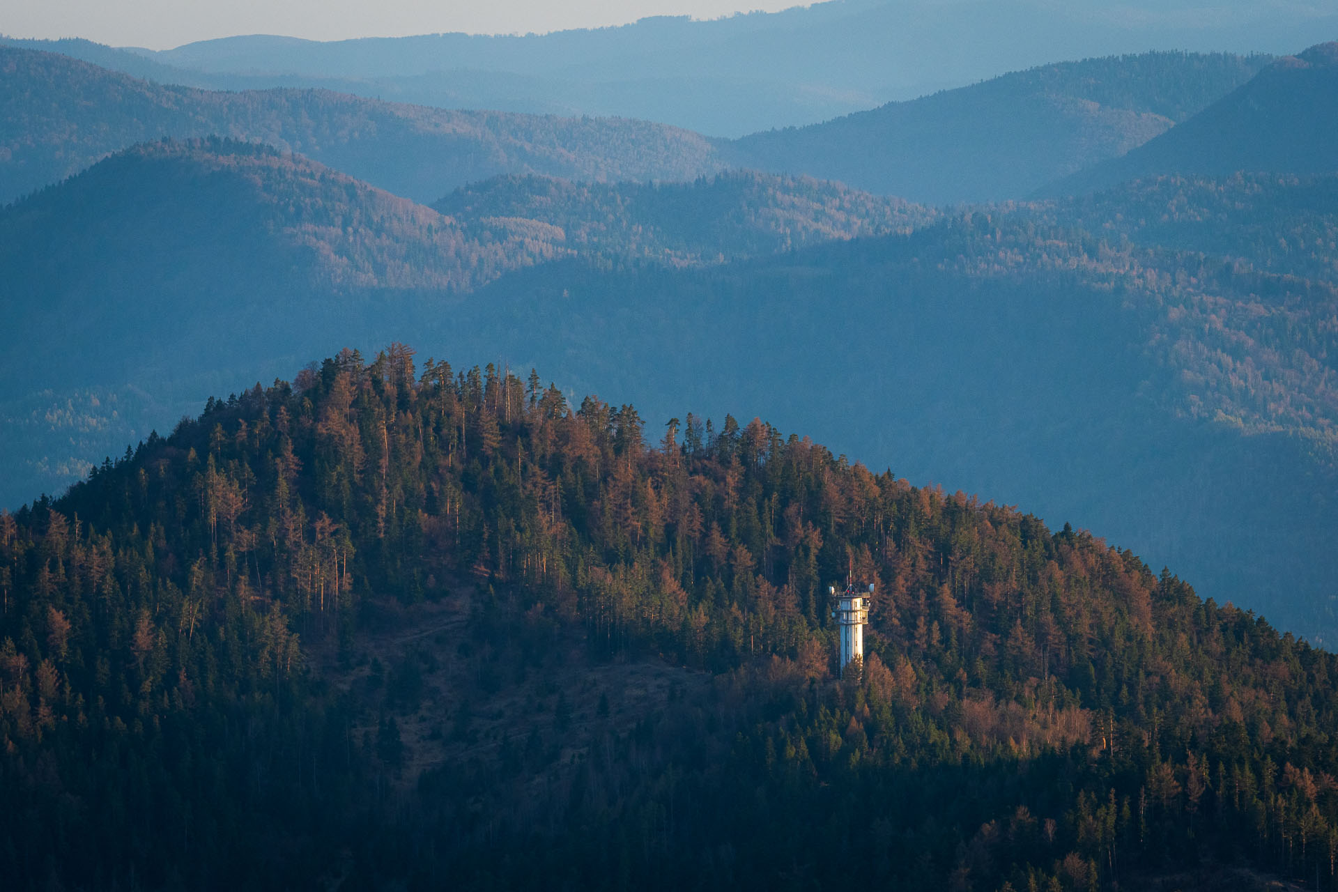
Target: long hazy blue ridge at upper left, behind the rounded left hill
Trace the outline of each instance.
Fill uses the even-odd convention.
[[[0,203],[162,136],[301,152],[420,202],[502,173],[692,179],[721,169],[697,134],[630,119],[443,111],[324,90],[222,92],[0,47]]]

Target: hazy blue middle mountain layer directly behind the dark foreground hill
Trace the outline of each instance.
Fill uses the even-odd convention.
[[[1334,189],[1164,179],[941,214],[763,175],[503,178],[432,210],[273,150],[151,144],[0,217],[25,308],[7,415],[31,456],[9,487],[170,427],[244,369],[431,333],[570,392],[637,386],[650,417],[728,397],[830,428],[1327,639]]]

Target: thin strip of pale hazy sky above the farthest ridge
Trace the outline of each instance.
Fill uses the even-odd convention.
[[[713,19],[795,0],[5,0],[0,33],[87,37],[167,49],[238,33],[314,40],[467,31],[514,33],[625,24],[653,15]]]

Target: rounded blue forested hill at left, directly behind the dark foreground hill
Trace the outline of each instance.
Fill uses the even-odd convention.
[[[5,500],[31,495],[20,480],[60,488],[90,457],[169,427],[261,350],[277,374],[294,349],[383,330],[415,296],[454,300],[563,253],[553,227],[463,227],[314,162],[226,140],[114,155],[0,210],[0,233],[11,381],[0,440],[24,456]],[[56,342],[82,361],[35,349]]]

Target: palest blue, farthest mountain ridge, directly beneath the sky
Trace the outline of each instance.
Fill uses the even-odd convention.
[[[254,35],[130,52],[199,75],[269,79],[248,86],[326,86],[438,107],[619,115],[733,138],[818,123],[1056,59],[1145,49],[1282,53],[1315,35],[1338,33],[1338,12],[1318,5],[1224,0],[1211,12],[1203,5],[843,0],[708,21],[656,16],[546,35],[328,43]]]

